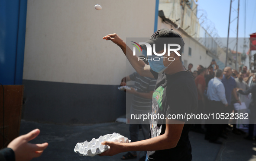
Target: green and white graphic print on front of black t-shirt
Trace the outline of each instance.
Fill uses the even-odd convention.
[[[151,138],[159,136],[162,130],[162,123],[158,126],[159,120],[158,116],[162,114],[162,99],[163,99],[164,88],[162,86],[158,87],[156,91],[153,93],[152,98],[152,119],[150,120],[150,131],[151,131]],[[155,116],[155,117],[153,117]]]

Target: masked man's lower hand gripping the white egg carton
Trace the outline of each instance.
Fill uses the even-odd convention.
[[[113,155],[116,155],[118,153],[123,152],[122,151],[122,149],[123,149],[122,144],[123,143],[105,141],[105,142],[102,142],[101,144],[102,145],[108,145],[108,146],[110,146],[110,148],[106,152],[101,153],[100,156],[105,156],[105,155],[106,156],[113,156]]]

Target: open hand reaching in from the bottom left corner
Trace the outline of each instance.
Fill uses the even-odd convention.
[[[47,142],[42,144],[29,143],[29,141],[35,139],[39,133],[39,129],[34,129],[31,132],[19,136],[10,142],[7,148],[13,149],[15,161],[30,161],[32,158],[37,158],[42,155],[42,152],[48,146]]]

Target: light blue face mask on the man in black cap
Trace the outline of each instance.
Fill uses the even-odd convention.
[[[164,66],[164,57],[166,56],[156,56],[156,55],[148,56],[149,66],[151,67],[151,69],[157,73],[162,73],[163,71],[165,71],[165,69],[167,69],[167,67],[173,62],[172,61],[171,63],[169,63],[168,66]]]

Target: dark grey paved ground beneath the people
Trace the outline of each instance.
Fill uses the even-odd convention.
[[[74,152],[77,142],[98,138],[100,135],[120,133],[129,138],[129,125],[125,123],[101,123],[83,126],[66,126],[45,123],[34,123],[21,121],[20,135],[28,133],[32,129],[39,128],[41,133],[32,140],[33,143],[48,142],[49,147],[45,149],[40,158],[32,161],[121,161],[125,153],[112,157],[81,157]],[[142,139],[142,132],[139,132]],[[256,161],[256,142],[243,139],[230,133],[227,140],[221,139],[223,145],[209,143],[204,140],[204,134],[189,133],[193,161]],[[138,153],[140,156],[143,153]],[[132,159],[129,161],[137,161]]]

